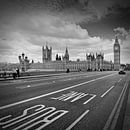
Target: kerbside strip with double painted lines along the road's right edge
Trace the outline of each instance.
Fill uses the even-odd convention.
[[[103,130],[122,130],[126,104],[129,94],[129,81],[126,81],[123,90],[112,110]]]

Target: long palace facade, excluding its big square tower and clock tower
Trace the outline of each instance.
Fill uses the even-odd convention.
[[[52,48],[51,48],[51,51],[52,51]],[[46,51],[44,51],[44,53],[45,52]],[[49,56],[49,57],[52,57],[52,56]],[[102,53],[99,53],[99,54],[96,53],[96,55],[87,54],[85,61],[80,61],[80,60],[70,61],[68,49],[66,48],[65,55],[63,56],[62,60],[61,58],[59,58],[57,54],[55,61],[51,61],[50,59],[43,60],[43,63],[31,64],[30,68],[55,70],[55,71],[66,70],[67,68],[69,68],[70,71],[78,71],[78,70],[102,71],[102,70],[113,70],[113,63],[109,61],[105,61],[104,54]]]

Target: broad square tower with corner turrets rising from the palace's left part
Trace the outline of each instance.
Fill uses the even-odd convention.
[[[52,47],[50,49],[46,45],[46,47],[42,47],[42,61],[43,63],[51,61],[52,60]]]

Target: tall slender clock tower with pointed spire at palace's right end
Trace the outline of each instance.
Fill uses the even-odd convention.
[[[118,38],[116,37],[114,43],[114,70],[120,69],[120,44]]]

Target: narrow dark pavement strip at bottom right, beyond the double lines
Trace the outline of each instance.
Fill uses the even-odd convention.
[[[123,130],[130,130],[130,89],[129,89],[129,95],[128,95],[128,100],[127,100],[127,105],[126,105]]]

